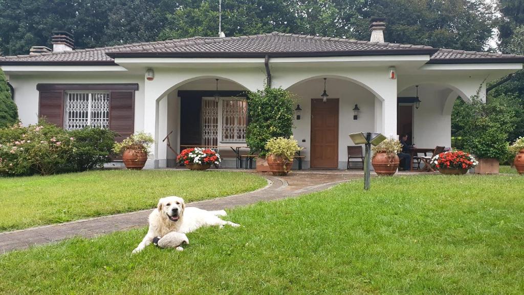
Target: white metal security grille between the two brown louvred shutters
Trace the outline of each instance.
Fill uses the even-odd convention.
[[[65,92],[64,129],[109,127],[109,92]]]

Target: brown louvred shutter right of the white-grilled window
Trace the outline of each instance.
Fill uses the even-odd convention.
[[[111,91],[109,129],[120,142],[135,131],[135,91]]]

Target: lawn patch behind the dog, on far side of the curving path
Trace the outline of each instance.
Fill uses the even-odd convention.
[[[0,231],[152,208],[169,195],[192,202],[266,184],[265,178],[254,174],[185,170],[0,177]]]

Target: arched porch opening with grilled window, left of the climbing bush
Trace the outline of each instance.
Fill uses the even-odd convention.
[[[222,166],[237,163],[236,147],[245,146],[246,88],[220,77],[186,80],[164,92],[158,101],[158,159],[174,167],[176,155],[190,147],[218,151]],[[169,134],[169,144],[167,139]],[[173,150],[175,152],[173,152]]]

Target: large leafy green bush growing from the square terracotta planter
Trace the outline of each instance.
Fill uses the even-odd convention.
[[[456,104],[453,110],[457,134],[465,151],[477,158],[507,157],[508,134],[515,128],[515,112],[498,100],[484,103],[478,96],[471,103]]]

